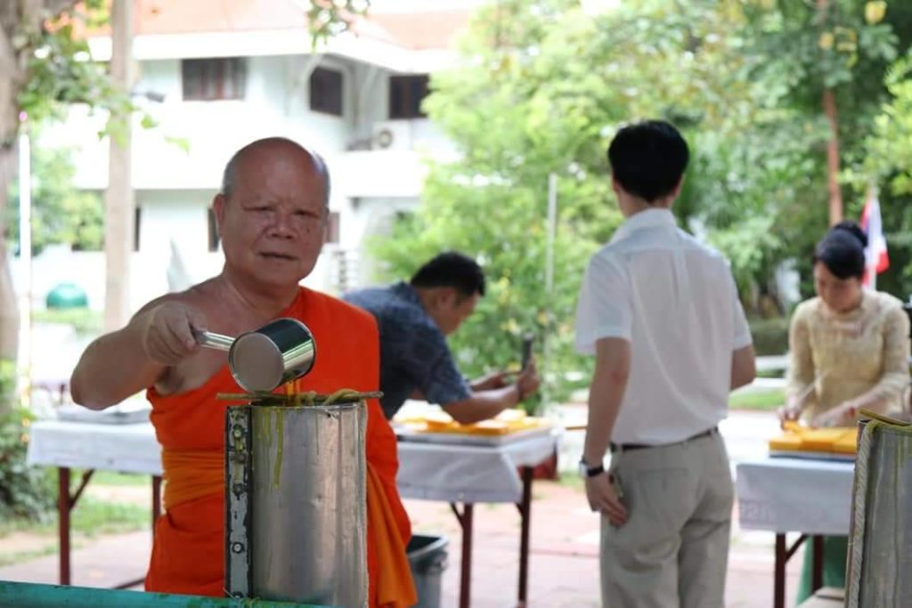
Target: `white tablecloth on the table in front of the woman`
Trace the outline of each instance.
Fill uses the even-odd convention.
[[[846,535],[854,462],[765,458],[737,466],[741,528]]]

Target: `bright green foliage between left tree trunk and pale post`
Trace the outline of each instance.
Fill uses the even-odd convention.
[[[69,149],[33,149],[32,249],[64,243],[75,250],[99,250],[104,242],[104,204],[98,192],[73,185],[75,169]],[[12,195],[18,199],[18,180]],[[9,210],[8,234],[19,239],[19,205]]]

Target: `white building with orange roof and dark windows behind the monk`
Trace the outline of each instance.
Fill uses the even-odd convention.
[[[375,0],[369,20],[315,54],[306,2],[137,0],[133,91],[158,126],[133,129],[134,310],[188,278],[218,272],[210,204],[224,163],[244,144],[274,135],[321,153],[333,181],[330,242],[306,283],[330,292],[361,283],[365,239],[418,204],[425,158],[454,153],[420,101],[429,74],[454,60],[453,42],[473,4]],[[91,37],[90,46],[93,57],[109,58],[108,36]],[[42,140],[78,149],[79,188],[107,187],[102,124],[75,108]],[[33,277],[37,306],[67,281],[87,289],[93,308],[104,304],[102,252],[49,250],[36,258]]]

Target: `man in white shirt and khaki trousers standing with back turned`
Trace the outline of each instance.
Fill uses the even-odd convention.
[[[733,488],[717,425],[756,372],[728,263],[670,211],[688,159],[667,122],[618,131],[608,160],[627,220],[590,260],[576,311],[576,348],[596,356],[580,469],[611,608],[723,604]]]

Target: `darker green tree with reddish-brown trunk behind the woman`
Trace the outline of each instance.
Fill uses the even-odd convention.
[[[780,163],[782,152],[783,165],[781,179],[767,184],[774,193],[772,204],[752,206],[748,214],[767,218],[778,241],[767,257],[773,264],[796,260],[806,296],[813,292],[810,253],[827,218],[858,218],[865,190],[876,181],[865,160],[865,142],[879,108],[891,97],[884,83],[887,67],[909,46],[912,5],[755,1],[745,3],[744,15],[745,77],[759,93],[754,116],[744,122],[745,139],[749,145],[765,143],[773,163]],[[772,138],[751,141],[761,133]],[[724,163],[715,175],[719,170]],[[844,194],[845,205],[834,209],[834,200],[841,201]],[[888,226],[895,225],[891,218]],[[735,232],[739,229],[735,226]],[[731,247],[726,251],[737,255]],[[761,264],[758,270],[753,278],[762,283],[772,268]],[[896,283],[880,286],[897,293]]]

